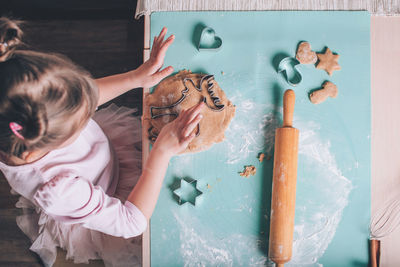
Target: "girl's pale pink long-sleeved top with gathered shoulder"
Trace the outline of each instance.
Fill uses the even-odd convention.
[[[14,191],[55,220],[125,238],[140,235],[147,227],[134,204],[112,197],[118,160],[93,120],[72,144],[25,165],[0,162],[0,170]]]

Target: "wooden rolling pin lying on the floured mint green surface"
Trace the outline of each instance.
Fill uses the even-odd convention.
[[[299,130],[292,127],[295,94],[283,96],[283,125],[276,129],[268,257],[282,267],[292,257]]]

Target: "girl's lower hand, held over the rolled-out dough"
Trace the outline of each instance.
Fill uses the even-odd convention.
[[[165,125],[154,143],[153,150],[166,154],[169,157],[183,152],[195,138],[193,130],[203,118],[200,113],[204,102],[183,110],[178,118]]]

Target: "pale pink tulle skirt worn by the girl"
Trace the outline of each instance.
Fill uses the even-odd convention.
[[[141,123],[133,112],[112,104],[97,111],[93,117],[108,136],[118,157],[119,181],[114,196],[122,202],[141,174]],[[75,263],[102,259],[106,266],[141,266],[141,236],[124,239],[84,228],[81,224],[66,225],[55,221],[23,197],[16,206],[23,209],[17,224],[31,239],[30,249],[40,256],[45,266],[54,264],[57,247],[66,250],[67,259]]]

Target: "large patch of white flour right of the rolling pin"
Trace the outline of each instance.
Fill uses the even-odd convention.
[[[344,177],[330,142],[323,141],[313,122],[296,121],[300,130],[293,256],[287,266],[319,266],[332,241],[353,189]],[[299,184],[302,184],[299,186]]]

